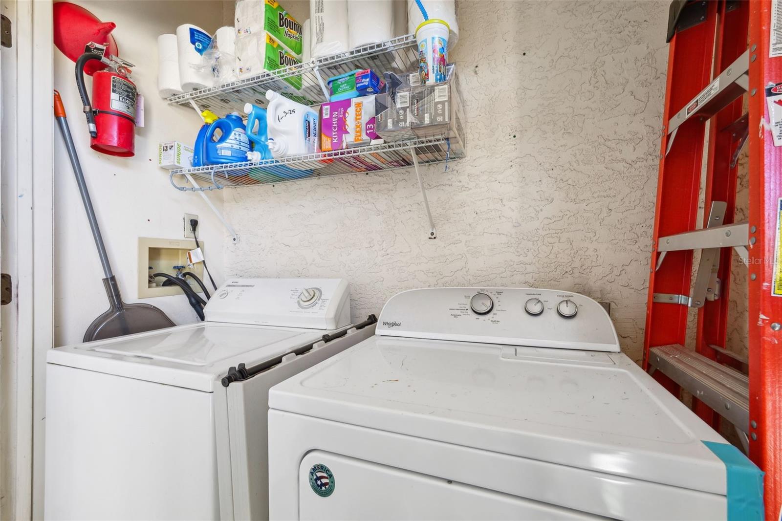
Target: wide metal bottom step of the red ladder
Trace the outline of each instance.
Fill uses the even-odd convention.
[[[651,347],[649,365],[661,371],[744,433],[749,429],[749,379],[679,344]]]

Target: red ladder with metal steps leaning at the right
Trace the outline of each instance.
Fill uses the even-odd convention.
[[[772,16],[779,16],[778,30]],[[782,145],[782,106],[769,113],[767,98],[775,93],[766,90],[782,85],[777,54],[782,0],[671,5],[644,336],[644,368],[672,393],[684,388],[697,397],[694,411],[705,422],[717,428],[722,417],[741,433],[750,458],[766,472],[766,519],[779,519],[782,509],[782,251],[775,260],[782,248],[782,146],[773,139],[776,132]],[[742,115],[744,94],[749,112]],[[745,142],[749,221],[735,223],[737,158]],[[693,282],[694,250],[701,257]],[[725,349],[734,250],[749,271],[748,361]],[[698,308],[694,352],[684,349],[691,307]]]

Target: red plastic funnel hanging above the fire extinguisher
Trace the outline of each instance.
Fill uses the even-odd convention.
[[[54,45],[71,61],[75,62],[84,54],[84,48],[91,41],[106,45],[107,55],[119,56],[117,41],[111,35],[114,27],[117,27],[115,23],[103,23],[79,5],[70,2],[56,2],[54,5]],[[105,68],[105,64],[91,59],[84,66],[84,72],[91,76],[96,70]]]

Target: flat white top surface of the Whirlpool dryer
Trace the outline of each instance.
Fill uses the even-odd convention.
[[[726,494],[702,443],[725,440],[624,354],[376,335],[274,386],[269,407]]]

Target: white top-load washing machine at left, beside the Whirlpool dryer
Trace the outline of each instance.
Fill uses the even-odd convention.
[[[48,352],[47,519],[264,519],[269,387],[372,335],[342,279],[231,279],[206,322]]]

